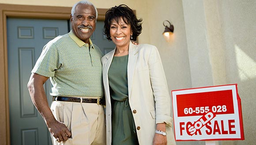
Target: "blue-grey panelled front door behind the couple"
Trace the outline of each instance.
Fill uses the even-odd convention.
[[[91,39],[105,54],[114,45],[103,36],[103,25],[97,22]],[[11,145],[52,144],[45,122],[31,101],[27,82],[43,46],[69,29],[69,20],[7,18]],[[49,80],[44,87],[50,105]]]

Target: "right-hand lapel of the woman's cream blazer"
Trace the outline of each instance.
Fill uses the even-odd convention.
[[[132,42],[130,41],[129,57],[128,57],[128,65],[127,65],[128,96],[129,97],[130,97],[131,90],[132,90],[132,78],[133,78],[137,58],[138,58],[138,49],[137,49],[136,45],[132,44]]]

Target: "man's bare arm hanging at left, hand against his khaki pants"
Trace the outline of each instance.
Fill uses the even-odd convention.
[[[43,84],[48,79],[49,77],[41,76],[37,73],[32,73],[27,87],[30,93],[30,97],[35,107],[38,109],[38,112],[45,120],[50,133],[53,134],[55,138],[59,138],[60,141],[66,141],[71,137],[71,132],[64,125],[64,123],[61,123],[54,118],[53,113],[49,108],[43,87]]]

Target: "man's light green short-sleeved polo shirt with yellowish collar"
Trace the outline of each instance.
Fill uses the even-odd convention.
[[[102,55],[70,31],[44,46],[31,72],[50,77],[52,96],[102,97]]]

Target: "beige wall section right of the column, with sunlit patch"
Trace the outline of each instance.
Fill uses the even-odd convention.
[[[252,145],[256,140],[256,1],[218,0],[218,7],[226,83],[238,83],[242,100],[245,141],[236,144]]]

